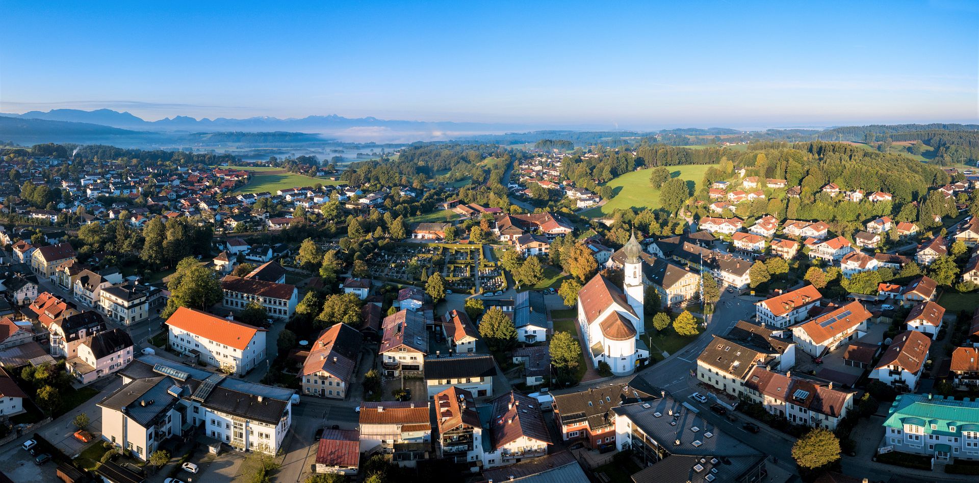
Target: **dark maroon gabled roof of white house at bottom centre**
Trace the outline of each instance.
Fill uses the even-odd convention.
[[[492,402],[492,447],[500,448],[522,436],[551,444],[547,424],[536,399],[510,391]]]

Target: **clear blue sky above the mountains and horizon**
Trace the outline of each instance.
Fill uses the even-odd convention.
[[[0,111],[609,128],[979,119],[977,2],[146,3],[4,2]]]

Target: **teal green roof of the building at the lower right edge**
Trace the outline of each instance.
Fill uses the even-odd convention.
[[[956,436],[962,431],[975,431],[979,428],[979,401],[904,394],[891,405],[884,426],[903,429],[905,424],[924,426],[925,434]]]

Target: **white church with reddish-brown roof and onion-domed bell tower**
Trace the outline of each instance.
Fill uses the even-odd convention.
[[[649,358],[649,348],[640,338],[643,322],[642,247],[635,234],[623,248],[626,271],[623,287],[596,275],[578,292],[578,324],[586,340],[594,367],[605,362],[616,375],[635,371]]]

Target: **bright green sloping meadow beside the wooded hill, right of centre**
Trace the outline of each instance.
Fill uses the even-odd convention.
[[[707,169],[717,164],[692,164],[669,166],[676,178],[700,182]],[[649,170],[632,171],[619,176],[606,185],[612,187],[615,197],[601,206],[582,212],[582,216],[594,218],[612,214],[617,208],[656,209],[660,207],[660,191],[649,186]]]

